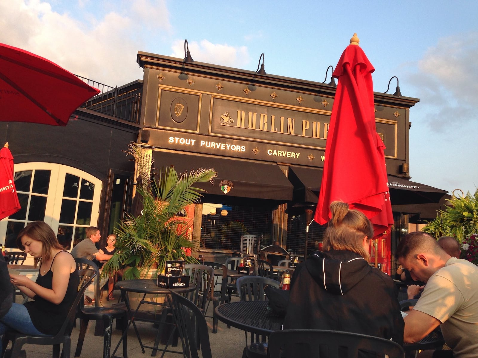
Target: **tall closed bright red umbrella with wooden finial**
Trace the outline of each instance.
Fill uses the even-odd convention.
[[[379,237],[393,224],[393,216],[385,146],[375,129],[373,71],[354,34],[333,74],[339,81],[314,219],[319,224],[328,222],[330,203],[341,200],[350,209],[362,211],[374,225],[374,236]]]

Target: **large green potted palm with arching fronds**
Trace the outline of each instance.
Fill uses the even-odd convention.
[[[125,269],[123,278],[133,279],[150,269],[162,273],[167,260],[196,262],[186,254],[193,245],[188,234],[190,225],[177,213],[202,196],[204,190],[195,188],[195,183],[211,181],[216,172],[198,169],[178,174],[171,166],[160,170],[155,183],[149,175],[150,159],[145,158],[141,146],[132,143],[126,153],[137,163],[136,195],[140,195],[144,209],[138,216],[127,215],[115,228],[117,251],[103,266],[102,275],[108,277]]]

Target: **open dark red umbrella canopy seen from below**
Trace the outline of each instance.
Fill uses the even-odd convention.
[[[99,90],[57,64],[0,43],[0,121],[66,126]]]

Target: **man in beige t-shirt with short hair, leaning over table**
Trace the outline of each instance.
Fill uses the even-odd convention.
[[[405,235],[396,258],[414,280],[426,283],[422,296],[404,318],[403,341],[417,342],[441,325],[453,351],[437,350],[434,358],[478,357],[478,267],[451,257],[424,232]]]

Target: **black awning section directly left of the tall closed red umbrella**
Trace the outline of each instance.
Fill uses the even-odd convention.
[[[322,168],[305,168],[294,165],[289,167],[289,180],[294,186],[294,203],[317,205],[323,172]]]

